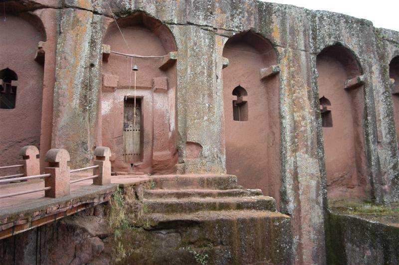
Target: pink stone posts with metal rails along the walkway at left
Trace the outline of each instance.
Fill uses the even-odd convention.
[[[30,147],[30,146],[25,146]],[[25,148],[23,147],[22,150]],[[34,147],[34,146],[33,146]],[[35,147],[36,148],[36,147]],[[37,148],[36,148],[37,150]],[[26,152],[25,152],[26,153]],[[38,151],[37,151],[38,154]],[[17,196],[32,192],[45,191],[44,196],[50,198],[57,198],[65,195],[69,195],[70,193],[70,184],[84,181],[87,179],[93,179],[93,184],[95,185],[104,185],[111,183],[111,162],[109,160],[111,156],[111,150],[108,147],[98,146],[94,150],[95,161],[93,166],[78,168],[70,170],[68,166],[68,161],[70,160],[69,153],[65,149],[50,149],[46,154],[45,161],[48,162],[48,167],[45,168],[45,174],[35,174],[35,175],[26,175],[20,176],[21,174],[14,175],[12,177],[7,176],[7,178],[0,179],[0,183],[11,182],[11,181],[21,181],[35,178],[44,178],[44,187],[39,189],[26,190],[17,193],[10,194],[2,194],[0,198],[6,198],[11,196]],[[23,155],[22,155],[23,157]],[[25,156],[28,160],[30,159],[29,155]],[[36,156],[35,156],[36,157]],[[24,160],[24,161],[25,161]],[[36,162],[36,161],[35,161]],[[37,159],[37,166],[38,166]],[[25,169],[32,168],[34,163],[25,162],[23,165],[15,165],[23,166]],[[93,169],[93,175],[89,177],[83,177],[80,179],[71,180],[70,173]],[[29,173],[31,171],[27,171]],[[33,171],[32,171],[33,172]]]

